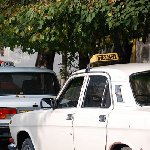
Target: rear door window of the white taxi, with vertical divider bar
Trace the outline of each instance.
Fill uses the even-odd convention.
[[[106,76],[90,76],[83,107],[110,107],[109,82]]]

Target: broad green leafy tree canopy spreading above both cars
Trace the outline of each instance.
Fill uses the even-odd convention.
[[[72,60],[76,52],[80,69],[87,65],[89,55],[111,51],[112,47],[121,56],[121,63],[129,62],[130,39],[149,32],[148,0],[11,2],[1,11],[1,44],[44,53],[49,68],[55,52],[61,53],[65,72],[67,60]]]

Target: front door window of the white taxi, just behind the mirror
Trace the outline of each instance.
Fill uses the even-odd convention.
[[[77,77],[68,83],[64,92],[57,99],[58,108],[77,107],[83,80],[84,77]]]

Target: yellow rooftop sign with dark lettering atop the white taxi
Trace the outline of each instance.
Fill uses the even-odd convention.
[[[90,59],[93,66],[113,64],[113,61],[119,60],[117,53],[95,54]]]

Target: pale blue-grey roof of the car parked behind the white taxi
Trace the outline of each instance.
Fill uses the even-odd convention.
[[[54,73],[54,71],[47,68],[39,68],[39,67],[0,67],[0,72],[48,72]]]

